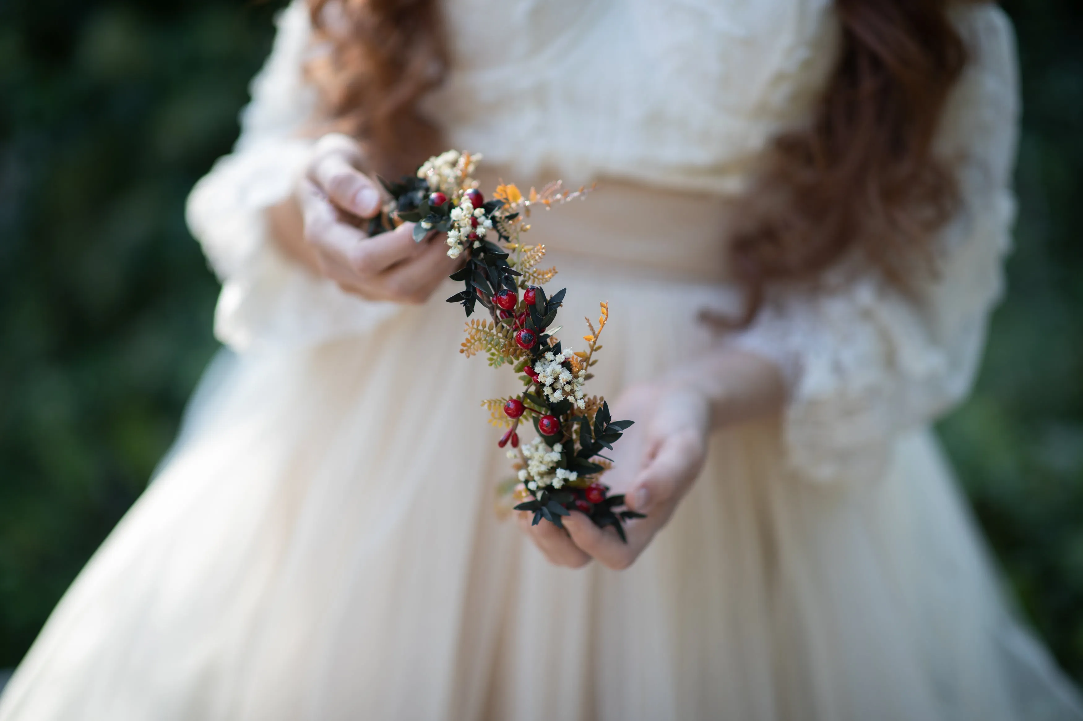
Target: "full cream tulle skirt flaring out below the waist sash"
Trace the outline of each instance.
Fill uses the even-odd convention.
[[[567,337],[610,303],[592,384],[611,398],[705,349],[699,309],[730,303],[561,280]],[[438,296],[216,361],[0,720],[1079,718],[928,430],[836,485],[786,471],[775,422],[720,431],[629,570],[549,565],[494,510],[510,471],[479,403],[511,374],[456,352],[461,311]]]

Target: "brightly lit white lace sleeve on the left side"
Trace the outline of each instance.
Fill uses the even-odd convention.
[[[196,184],[187,203],[192,235],[222,281],[214,335],[235,350],[362,333],[399,308],[341,291],[287,258],[270,237],[265,211],[292,192],[313,143],[302,130],[315,108],[303,71],[311,45],[303,0],[293,0],[277,26],[233,152]]]

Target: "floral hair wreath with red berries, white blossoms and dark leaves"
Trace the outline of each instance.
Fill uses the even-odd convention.
[[[481,156],[448,150],[427,160],[414,176],[383,183],[391,200],[373,221],[370,232],[387,230],[404,222],[416,223],[414,240],[432,232],[445,233],[451,257],[466,262],[452,279],[464,290],[447,298],[466,309],[466,339],[460,352],[485,353],[494,368],[513,366],[523,389],[510,398],[482,402],[490,423],[506,428],[497,444],[510,445],[508,455],[518,472],[513,497],[516,510],[533,511],[534,523],[543,519],[562,526],[561,518],[572,509],[587,515],[597,525],[612,525],[624,539],[624,521],[642,518],[625,507],[623,494],[610,494],[601,482],[612,459],[612,450],[631,420],[613,420],[604,398],[587,396],[589,369],[609,321],[609,305],[601,304],[597,328],[587,319],[586,350],[564,349],[553,325],[566,289],[551,296],[544,285],[556,268],[540,268],[545,245],[524,244],[531,229],[531,211],[584,198],[589,188],[565,190],[550,183],[540,191],[523,193],[512,184],[500,183],[486,201],[472,177]],[[488,319],[470,319],[478,304]],[[530,423],[537,437],[520,444],[519,427]]]

